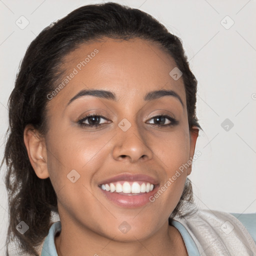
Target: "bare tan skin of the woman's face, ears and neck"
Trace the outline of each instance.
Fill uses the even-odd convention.
[[[82,44],[64,61],[68,75],[94,49],[98,53],[68,84],[49,100],[45,137],[27,125],[24,141],[39,178],[50,177],[57,194],[62,225],[55,237],[58,255],[187,255],[178,230],[168,217],[182,194],[183,173],[154,201],[137,208],[117,206],[103,196],[100,181],[117,174],[147,174],[162,186],[194,154],[198,129],[188,128],[182,77],[169,75],[176,64],[155,43],[142,39]],[[76,68],[77,69],[77,68]],[[68,101],[82,89],[105,89],[117,101],[86,95]],[[143,99],[152,90],[172,89],[173,96]],[[77,121],[87,113],[108,120],[101,127],[82,127]],[[174,126],[157,126],[154,116],[169,114]],[[118,127],[126,118],[127,131]],[[165,123],[169,123],[165,119]],[[88,123],[88,119],[86,121]],[[72,183],[67,174],[75,169],[80,178]],[[131,229],[123,234],[118,226]]]

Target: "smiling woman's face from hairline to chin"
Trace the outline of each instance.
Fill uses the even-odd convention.
[[[107,39],[80,45],[63,63],[62,86],[48,95],[45,137],[60,220],[120,241],[151,236],[179,201],[190,169],[175,173],[198,135],[188,129],[182,76],[169,74],[174,60],[152,42]]]

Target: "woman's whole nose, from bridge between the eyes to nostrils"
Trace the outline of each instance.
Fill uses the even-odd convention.
[[[142,126],[134,118],[123,118],[116,127],[116,139],[113,148],[115,159],[129,158],[136,161],[139,158],[151,158],[152,151],[147,145]]]

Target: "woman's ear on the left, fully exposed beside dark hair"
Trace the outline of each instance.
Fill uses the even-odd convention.
[[[25,126],[23,137],[27,154],[35,174],[39,178],[49,177],[44,138],[31,124]]]

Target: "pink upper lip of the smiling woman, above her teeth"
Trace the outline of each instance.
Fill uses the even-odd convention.
[[[111,182],[116,182],[116,181],[120,181],[120,180],[127,180],[127,181],[147,181],[153,185],[158,184],[158,181],[148,175],[145,174],[131,174],[131,173],[121,173],[118,174],[116,176],[104,179],[102,181],[99,182],[99,184],[107,184],[107,183],[111,183]]]

